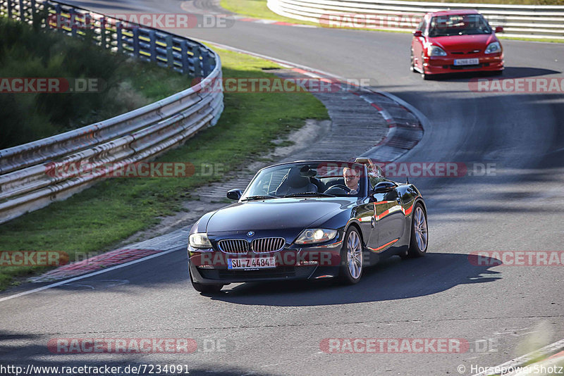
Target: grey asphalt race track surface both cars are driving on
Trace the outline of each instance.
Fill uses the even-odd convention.
[[[106,13],[181,11],[180,1],[169,0],[73,4]],[[202,13],[211,7],[188,6]],[[498,365],[564,338],[562,265],[479,266],[468,256],[564,250],[562,92],[473,92],[465,76],[423,81],[409,71],[407,34],[243,21],[178,33],[369,78],[374,89],[407,101],[428,120],[424,138],[401,161],[465,163],[475,173],[410,178],[427,200],[429,254],[391,258],[365,270],[354,287],[232,284],[219,296],[202,296],[190,286],[181,249],[0,302],[1,363],[178,364],[188,365],[190,375],[471,375],[472,366]],[[504,78],[563,77],[563,44],[502,44]],[[486,163],[491,170],[482,176]],[[50,353],[47,342],[60,337],[192,338],[207,348]],[[327,338],[458,338],[470,347],[464,353],[330,354],[320,349]]]

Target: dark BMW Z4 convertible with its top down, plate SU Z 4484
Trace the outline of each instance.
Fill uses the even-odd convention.
[[[227,197],[237,202],[190,230],[188,272],[199,292],[265,280],[355,284],[382,258],[427,252],[422,195],[387,180],[369,158],[271,165]]]

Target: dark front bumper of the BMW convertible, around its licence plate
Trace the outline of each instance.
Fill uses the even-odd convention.
[[[283,249],[274,253],[234,255],[221,251],[188,251],[192,280],[202,284],[231,282],[313,280],[336,277],[341,264],[342,242],[329,246]],[[228,258],[276,258],[276,268],[228,269]]]

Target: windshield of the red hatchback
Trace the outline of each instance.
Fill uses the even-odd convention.
[[[480,14],[439,15],[431,18],[429,37],[491,34],[491,27]]]

